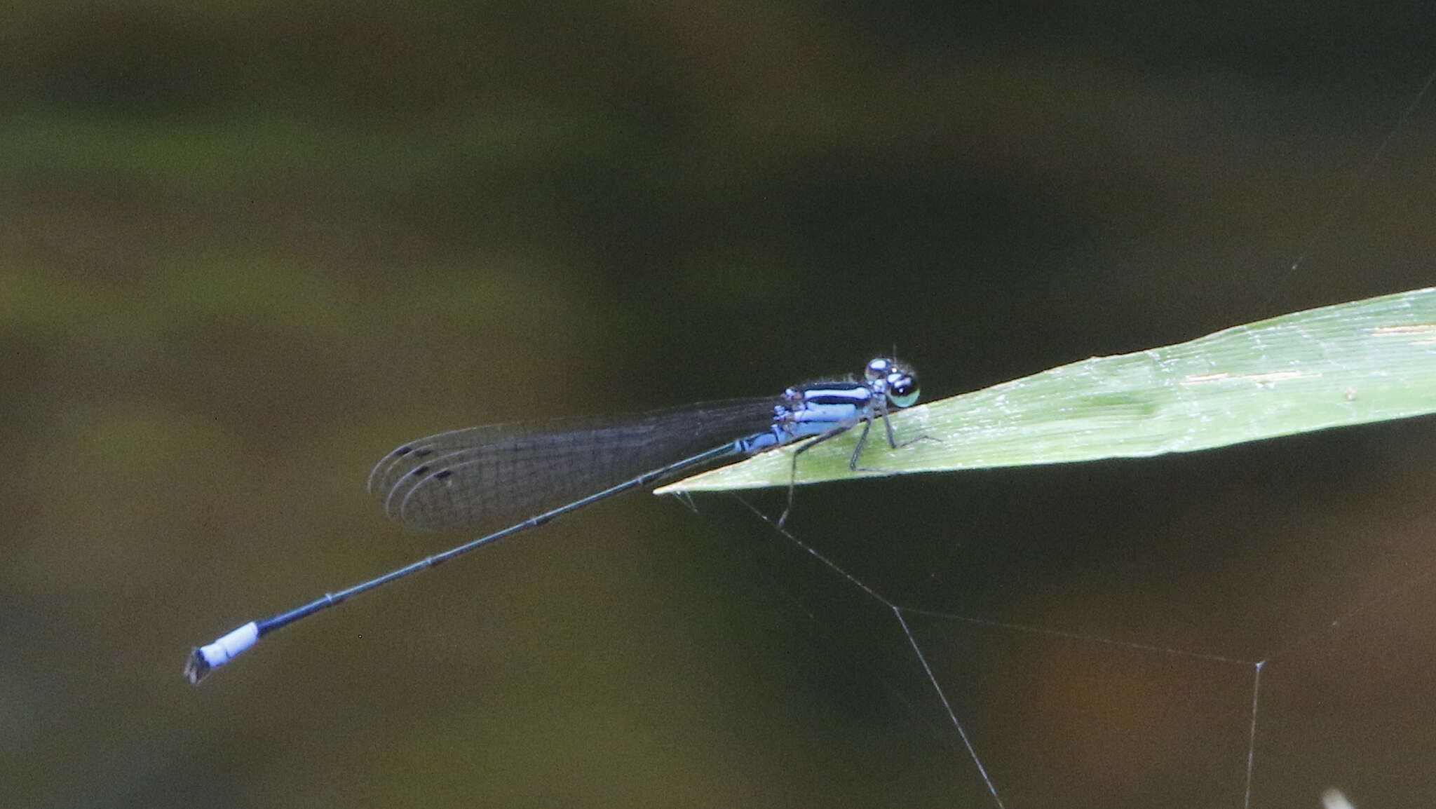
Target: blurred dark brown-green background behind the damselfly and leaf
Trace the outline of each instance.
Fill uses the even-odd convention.
[[[1432,277],[1429,3],[3,17],[6,806],[994,806],[890,615],[731,497],[180,668],[449,545],[362,490],[416,435],[893,345],[938,398]],[[1432,451],[811,487],[791,529],[898,604],[1090,638],[913,615],[1008,806],[1242,806],[1268,658],[1251,805],[1410,806]]]

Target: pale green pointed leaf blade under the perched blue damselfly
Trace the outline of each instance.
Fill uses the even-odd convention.
[[[797,483],[1196,451],[1436,411],[1436,289],[1234,326],[1183,343],[1097,356],[909,408],[890,450],[857,430],[801,456]],[[787,486],[794,447],[658,493]]]

